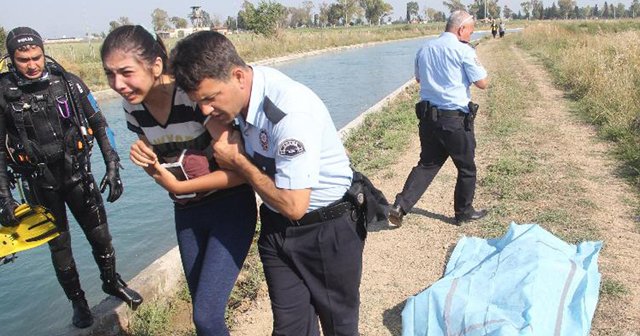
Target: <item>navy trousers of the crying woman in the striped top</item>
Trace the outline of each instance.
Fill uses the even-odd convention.
[[[182,267],[199,336],[228,336],[225,309],[253,241],[255,193],[243,188],[230,195],[175,209]]]

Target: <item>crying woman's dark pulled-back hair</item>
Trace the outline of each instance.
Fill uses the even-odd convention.
[[[147,65],[153,64],[156,58],[160,57],[164,65],[162,72],[168,73],[167,48],[160,37],[154,35],[140,25],[120,26],[104,39],[100,47],[100,57],[104,62],[105,57],[114,51],[134,52],[140,61]]]

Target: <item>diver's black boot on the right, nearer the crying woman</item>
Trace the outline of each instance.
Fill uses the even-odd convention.
[[[136,310],[142,303],[142,296],[127,284],[116,273],[116,254],[111,250],[105,254],[94,254],[98,268],[100,269],[100,279],[102,279],[102,290],[124,301],[131,309]]]

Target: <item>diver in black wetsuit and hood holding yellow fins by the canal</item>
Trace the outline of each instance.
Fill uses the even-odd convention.
[[[80,78],[44,55],[42,38],[35,30],[11,30],[6,46],[11,63],[9,72],[0,75],[0,223],[18,224],[14,215],[18,203],[10,186],[19,176],[28,203],[42,205],[55,216],[60,236],[49,242],[53,266],[72,302],[73,325],[86,328],[93,324],[93,316],[73,260],[66,206],[91,244],[102,290],[132,309],[142,303],[142,297],[116,273],[100,195],[107,186],[107,201],[114,202],[122,194],[120,159],[93,95]],[[90,166],[94,139],[107,166],[100,188]]]

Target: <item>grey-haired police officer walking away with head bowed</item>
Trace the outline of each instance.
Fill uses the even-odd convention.
[[[445,32],[428,40],[416,55],[415,76],[420,83],[421,99],[416,104],[420,120],[420,161],[390,208],[389,221],[397,226],[422,197],[448,157],[458,169],[453,206],[456,224],[487,214],[486,210],[475,210],[472,205],[476,187],[473,120],[477,105],[471,102],[470,86],[485,89],[488,85],[487,72],[468,44],[474,25],[469,13],[453,12]]]

